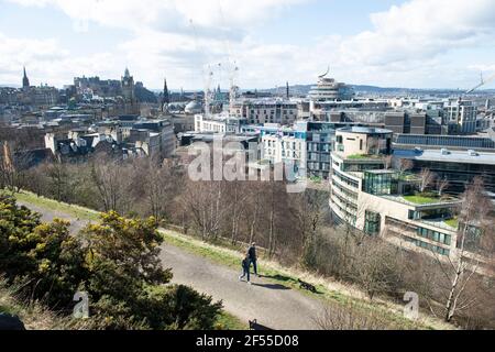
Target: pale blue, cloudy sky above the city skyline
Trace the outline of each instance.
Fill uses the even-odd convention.
[[[0,85],[152,89],[339,81],[469,89],[495,74],[495,0],[0,0]],[[486,85],[495,88],[495,84]]]

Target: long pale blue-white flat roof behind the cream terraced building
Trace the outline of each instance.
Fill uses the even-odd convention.
[[[395,150],[394,156],[416,161],[495,165],[495,153],[447,150]]]

